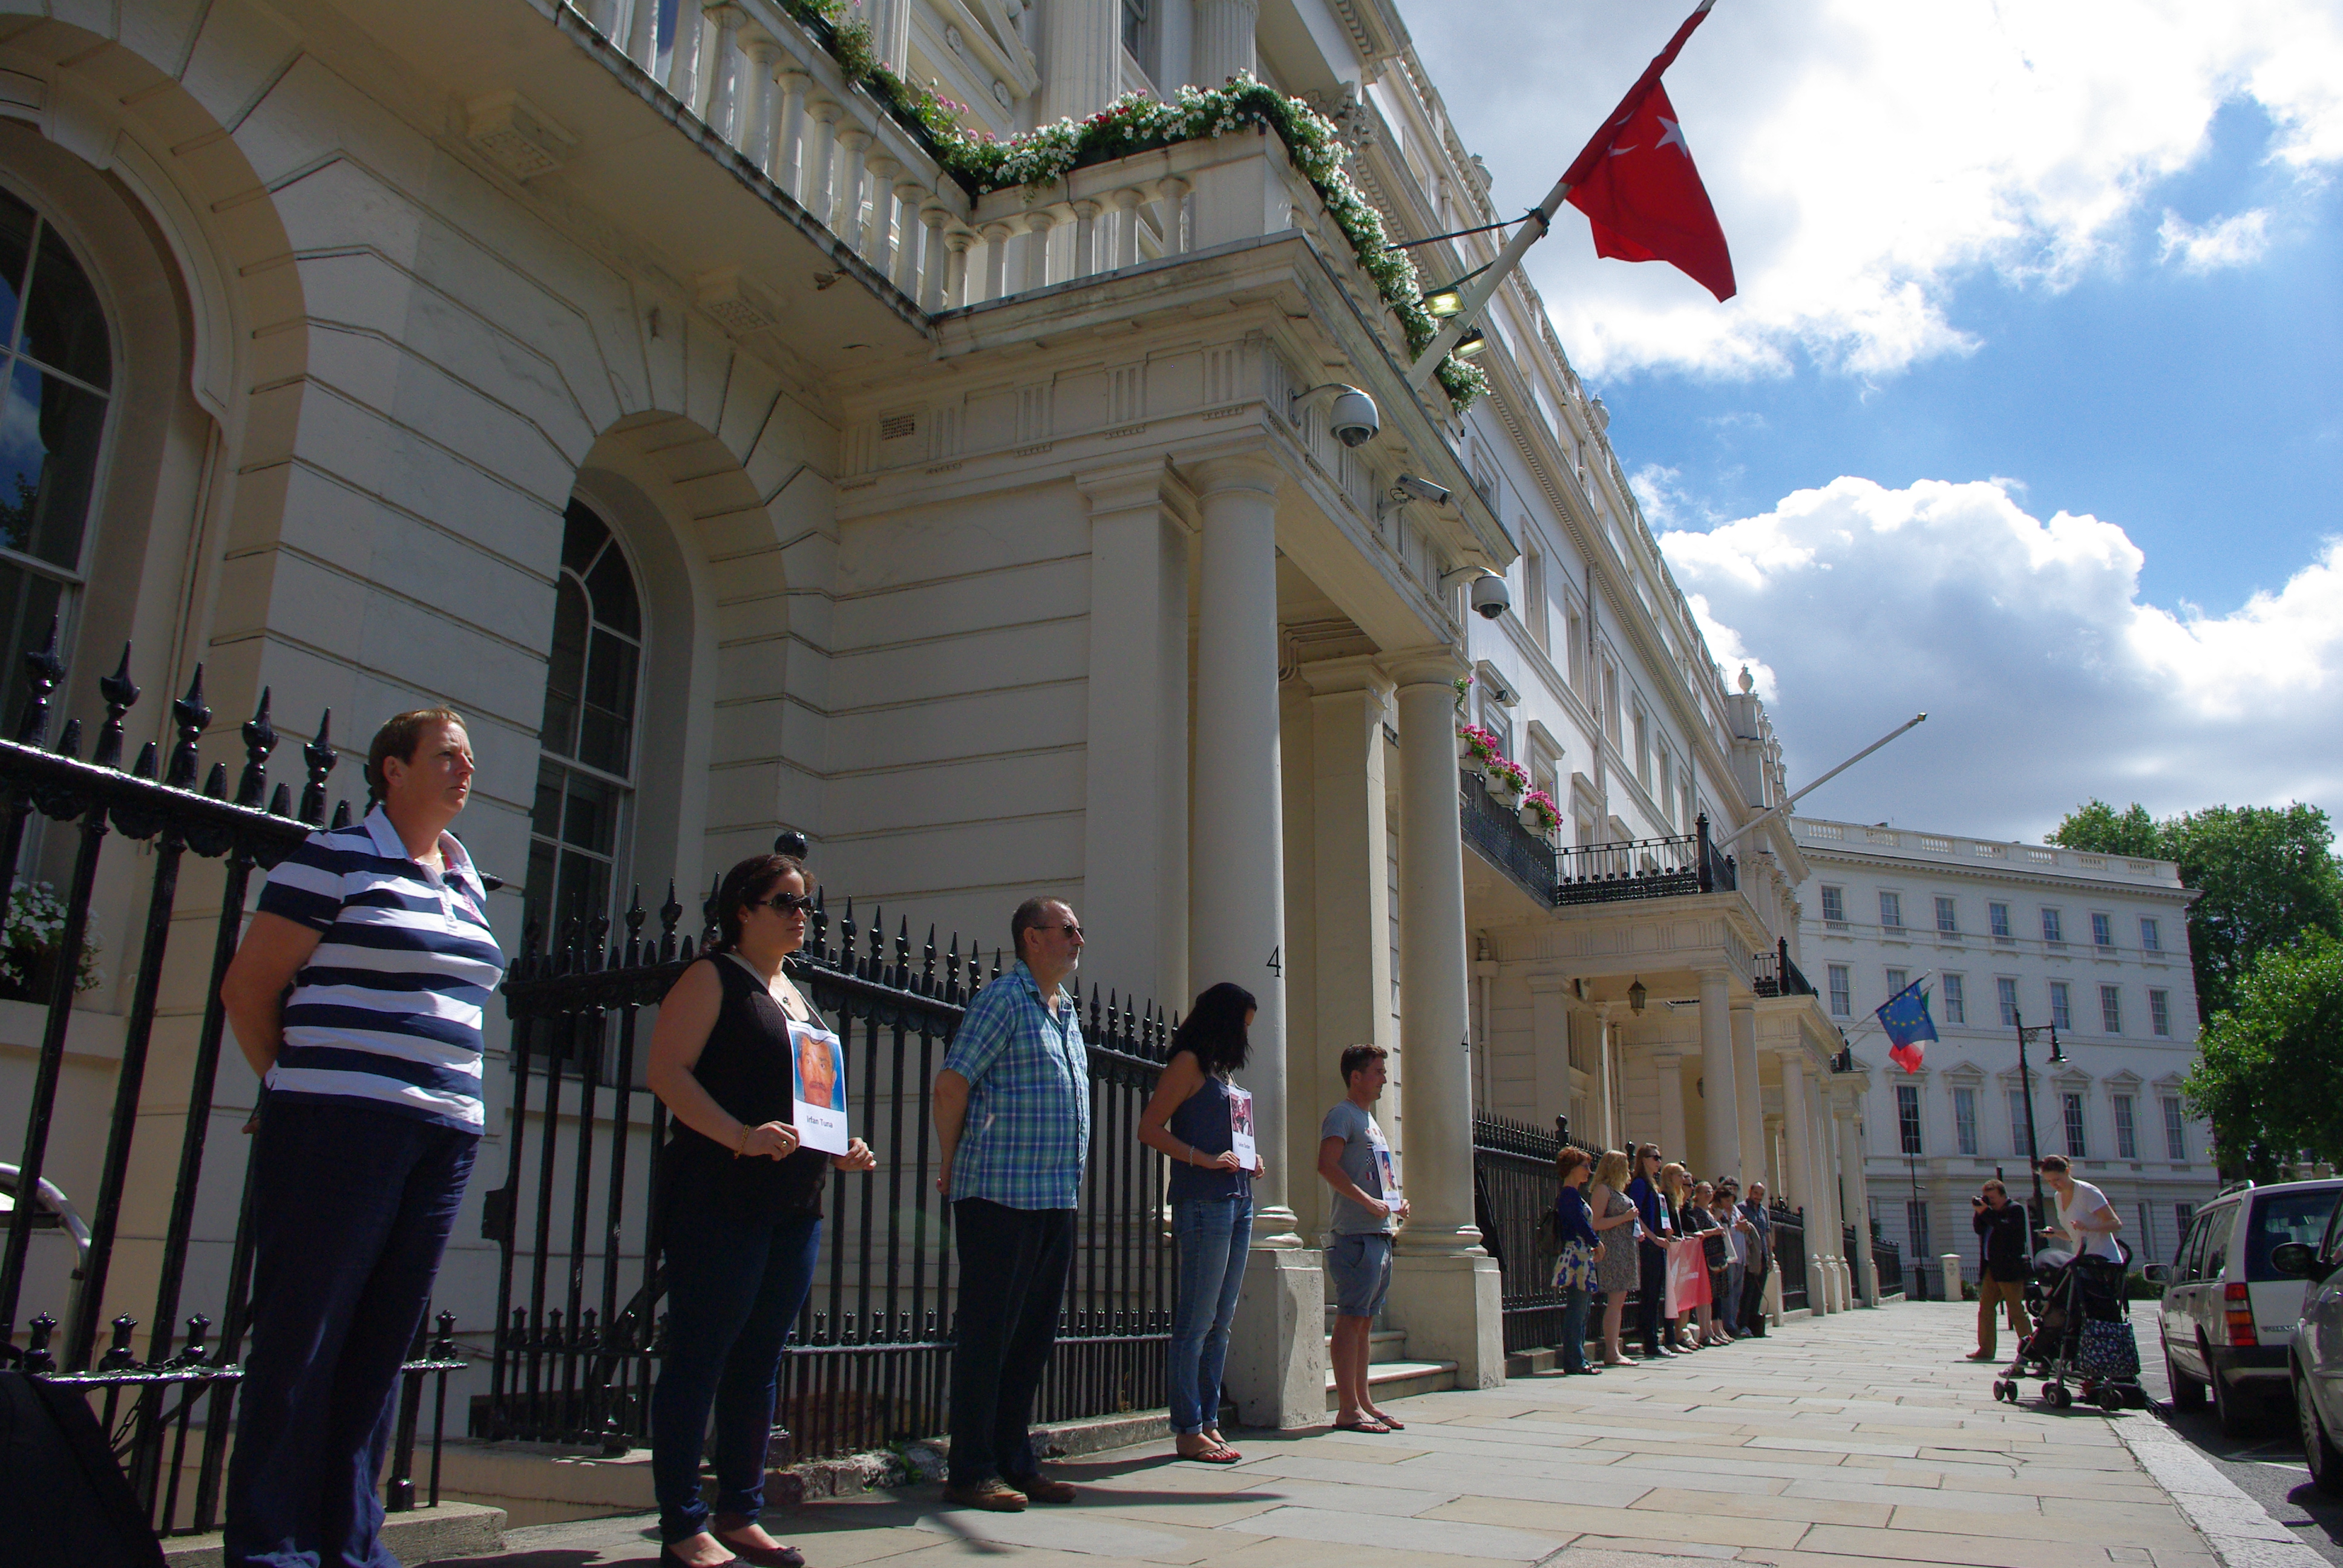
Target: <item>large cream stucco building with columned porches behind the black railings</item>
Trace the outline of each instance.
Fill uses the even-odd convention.
[[[881,61],[996,134],[1258,73],[1338,122],[1394,239],[1500,216],[1385,0],[869,12]],[[1284,1127],[1251,1420],[1321,1399],[1307,1172],[1350,1043],[1394,1052],[1394,1317],[1467,1385],[1504,1376],[1476,1109],[1764,1172],[1828,1219],[1818,1305],[1853,1294],[1856,1083],[1795,980],[1809,844],[1776,820],[1731,865],[1701,848],[1703,818],[1722,839],[1781,799],[1769,720],[1715,670],[1535,291],[1497,298],[1485,398],[1413,394],[1279,136],[972,195],[776,0],[0,0],[0,218],[12,279],[73,323],[9,382],[7,429],[42,436],[0,471],[40,509],[0,537],[9,722],[52,612],[61,720],[103,720],[131,645],[134,755],[199,666],[204,766],[230,771],[262,689],[281,762],[323,708],[363,745],[450,703],[508,952],[635,886],[689,900],[794,827],[832,907],[989,947],[1057,893],[1101,987],[1251,987]],[[1490,239],[1418,248],[1425,281]],[[1380,429],[1338,438],[1328,387]],[[1485,572],[1497,621],[1464,607]],[[1476,783],[1460,802],[1464,673],[1563,802],[1560,867]],[[70,837],[35,825],[26,874],[61,884]],[[68,1193],[98,1181],[143,853],[98,879],[115,961],[52,1062]],[[150,1310],[218,898],[190,860],[108,1315]],[[440,1287],[471,1336],[501,1027]],[[40,1008],[0,1003],[0,1104],[40,1041]],[[227,1052],[190,1301],[220,1294],[253,1095]]]

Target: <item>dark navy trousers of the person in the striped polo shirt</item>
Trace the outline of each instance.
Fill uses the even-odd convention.
[[[375,1479],[478,1146],[349,1102],[272,1099],[260,1113],[253,1348],[227,1465],[234,1568],[398,1568]]]

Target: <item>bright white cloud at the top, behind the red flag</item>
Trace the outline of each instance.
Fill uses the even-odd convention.
[[[1514,213],[1687,9],[1401,5]],[[1530,274],[1582,370],[1776,375],[1804,354],[1888,375],[1977,347],[1947,309],[1959,279],[1992,270],[2059,288],[2104,265],[2127,225],[2163,206],[2158,185],[2205,150],[2224,103],[2261,105],[2268,157],[2315,183],[2343,159],[2343,7],[1734,0],[1694,35],[1668,94],[1741,295],[1717,307],[1661,265],[1600,263],[1565,213]]]

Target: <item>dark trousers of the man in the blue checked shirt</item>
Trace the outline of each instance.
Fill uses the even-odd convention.
[[[951,1205],[961,1305],[951,1327],[951,1486],[1040,1474],[1033,1395],[1057,1345],[1073,1266],[1073,1209]]]

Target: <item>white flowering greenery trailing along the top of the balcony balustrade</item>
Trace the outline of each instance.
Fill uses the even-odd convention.
[[[991,131],[965,129],[961,122],[965,105],[944,98],[933,82],[918,87],[888,70],[872,49],[872,30],[860,16],[860,0],[783,0],[783,5],[836,56],[848,80],[860,82],[895,120],[928,141],[937,162],[970,195],[1015,185],[1036,190],[1087,164],[1104,164],[1179,141],[1230,136],[1244,129],[1275,131],[1286,143],[1293,166],[1319,192],[1326,216],[1343,230],[1382,302],[1399,316],[1408,352],[1422,354],[1439,335],[1439,323],[1425,309],[1415,263],[1406,251],[1392,246],[1389,234],[1382,232],[1382,213],[1359,195],[1343,166],[1350,152],[1333,122],[1300,98],[1289,98],[1251,75],[1239,75],[1221,87],[1181,87],[1169,101],[1139,91],[1122,94],[1087,120],[1059,120],[1000,141]],[[1469,408],[1488,391],[1488,377],[1481,368],[1453,354],[1441,361],[1439,382],[1457,410]]]

